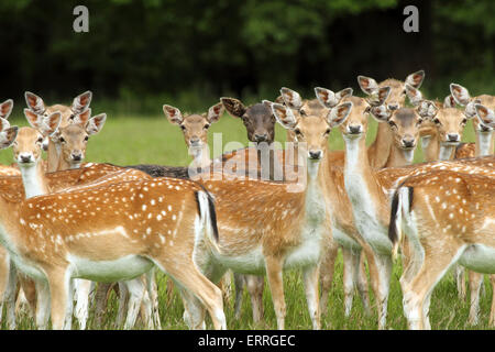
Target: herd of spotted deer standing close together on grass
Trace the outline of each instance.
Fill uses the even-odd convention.
[[[420,70],[405,81],[378,84],[359,76],[365,98],[352,96],[351,88],[336,94],[318,87],[317,99],[304,100],[282,88],[275,102],[245,107],[221,98],[204,114],[183,116],[165,105],[194,155],[194,177],[186,167],[82,163],[88,138],[106,121],[106,114],[91,117],[89,91],[70,107],[48,107],[26,92],[31,127],[24,128],[10,127],[13,102],[7,100],[0,106],[0,147],[12,146],[16,162],[0,167],[0,311],[4,304],[7,326],[15,328],[16,306],[24,301],[40,329],[50,317],[54,329],[72,328],[73,311],[85,329],[90,297],[101,319],[118,283],[118,321],[130,329],[141,312],[147,328],[161,328],[157,266],[179,290],[193,329],[206,327],[207,310],[216,329],[227,328],[216,285],[227,271],[234,273],[235,315],[245,286],[255,321],[264,315],[266,275],[277,328],[284,329],[283,272],[301,268],[309,316],[319,329],[339,249],[346,316],[355,288],[371,312],[367,262],[378,327],[386,327],[393,261],[400,251],[411,329],[430,328],[431,293],[453,266],[461,298],[463,268],[470,270],[469,319],[476,323],[483,274],[495,274],[495,97],[471,97],[451,84],[443,102],[427,100],[419,91],[424,77]],[[208,129],[224,109],[242,120],[255,146],[211,161]],[[369,116],[380,123],[366,147]],[[461,143],[468,120],[475,143]],[[274,143],[276,122],[297,151],[268,148],[267,168],[245,164]],[[328,148],[336,127],[344,151]],[[426,163],[413,165],[419,142]],[[233,161],[263,177],[216,167]],[[304,183],[290,180],[290,172],[276,179],[280,165],[287,170],[289,164]],[[495,286],[495,276],[491,282]]]

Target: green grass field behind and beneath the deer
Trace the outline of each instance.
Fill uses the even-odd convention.
[[[99,113],[99,111],[94,111]],[[20,117],[11,118],[11,124],[26,125],[26,121]],[[210,133],[223,132],[223,143],[239,141],[246,144],[246,134],[241,121],[224,114],[223,118],[210,129]],[[372,122],[367,135],[369,142],[374,139],[376,123]],[[285,133],[277,127],[276,136],[278,141],[285,140]],[[469,123],[464,141],[474,141],[474,133]],[[212,147],[210,139],[210,147]],[[237,146],[230,147],[234,148]],[[330,148],[343,148],[343,141],[338,130],[330,136]],[[213,156],[218,156],[215,154]],[[418,150],[415,161],[421,161],[421,151]],[[167,122],[164,116],[142,116],[135,118],[119,118],[109,116],[106,127],[101,133],[92,136],[88,144],[86,161],[109,162],[117,165],[132,165],[140,163],[153,163],[163,165],[187,165],[190,156],[187,155],[184,138],[180,130]],[[12,152],[10,150],[0,153],[0,163],[11,164]],[[398,284],[400,277],[400,265],[396,264],[392,279],[391,296],[388,302],[388,327],[391,329],[406,329],[406,319],[403,315],[402,293]],[[183,322],[183,304],[177,294],[170,301],[165,295],[165,277],[158,275],[160,287],[160,312],[164,329],[186,329]],[[265,286],[267,287],[267,286]],[[310,329],[311,321],[306,308],[306,299],[302,289],[302,280],[299,272],[285,274],[285,295],[287,301],[287,329]],[[371,295],[373,297],[373,295]],[[480,324],[470,327],[466,323],[469,315],[469,302],[460,301],[457,296],[455,285],[452,275],[437,286],[431,298],[430,320],[433,329],[490,329],[488,314],[492,297],[492,288],[488,280],[485,280],[485,295],[481,299]],[[117,299],[111,296],[110,306],[106,316],[105,329],[116,329],[114,320],[117,316]],[[248,294],[244,293],[242,317],[239,320],[233,318],[233,301],[227,301],[224,311],[229,329],[275,329],[276,319],[270,292],[264,293],[265,322],[253,326],[251,315],[251,304]],[[92,322],[92,310],[89,316],[88,327],[95,329]],[[208,327],[211,323],[208,318]],[[1,326],[6,329],[4,322]],[[21,316],[20,329],[34,329],[34,322],[26,316]],[[77,328],[75,324],[74,328]],[[140,329],[138,322],[136,329]],[[373,314],[366,317],[363,312],[359,295],[354,298],[351,317],[344,318],[343,290],[342,290],[342,260],[336,266],[334,284],[329,297],[328,315],[322,317],[323,329],[376,329],[377,316]]]

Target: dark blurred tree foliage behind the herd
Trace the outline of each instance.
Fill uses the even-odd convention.
[[[73,9],[89,9],[89,33]],[[405,6],[420,32],[405,33]],[[87,89],[95,102],[155,113],[205,109],[220,96],[274,99],[282,86],[356,87],[356,75],[427,72],[427,96],[452,80],[493,92],[492,0],[2,0],[0,100],[24,90],[51,102]],[[356,90],[358,91],[358,90]],[[63,102],[63,101],[61,101]],[[120,111],[120,113],[125,113]]]

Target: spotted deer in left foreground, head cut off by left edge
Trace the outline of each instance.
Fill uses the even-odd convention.
[[[36,282],[40,328],[46,327],[51,298],[53,327],[70,327],[72,277],[129,279],[153,265],[187,290],[189,305],[198,297],[210,311],[213,326],[224,328],[219,289],[196,270],[193,252],[183,249],[202,231],[211,243],[218,239],[212,199],[194,182],[140,178],[21,202],[2,195],[0,222],[2,244],[16,266]],[[177,248],[180,255],[170,260],[168,253]]]

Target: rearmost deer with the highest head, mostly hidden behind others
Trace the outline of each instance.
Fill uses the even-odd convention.
[[[366,76],[358,76],[358,82],[361,90],[370,96],[372,99],[376,99],[377,91],[383,87],[391,87],[391,92],[385,101],[391,110],[398,109],[406,106],[406,85],[419,89],[425,79],[425,72],[418,70],[406,77],[405,81],[400,81],[395,78],[388,78],[382,82],[376,82],[375,79]],[[373,98],[373,96],[375,98]],[[393,135],[386,124],[378,124],[376,138],[374,142],[367,148],[367,155],[372,167],[382,168],[394,165],[394,162],[389,160],[391,147],[393,145]]]

